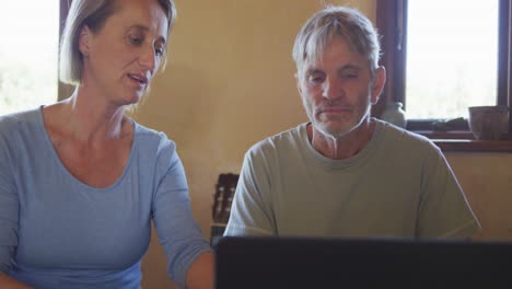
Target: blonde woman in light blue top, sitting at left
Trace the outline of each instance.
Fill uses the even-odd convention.
[[[173,0],[73,0],[71,97],[0,117],[0,288],[140,288],[151,219],[182,287],[211,288],[175,144],[125,108],[165,55]]]

